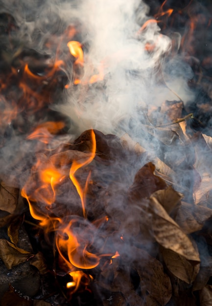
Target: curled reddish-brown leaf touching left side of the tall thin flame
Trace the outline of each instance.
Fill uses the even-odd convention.
[[[49,161],[57,167],[63,167],[71,164],[73,160],[87,159],[91,153],[84,153],[77,150],[67,150],[49,157]]]

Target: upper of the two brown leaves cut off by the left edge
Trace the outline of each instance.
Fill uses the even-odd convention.
[[[14,214],[18,205],[19,189],[0,183],[0,209]]]

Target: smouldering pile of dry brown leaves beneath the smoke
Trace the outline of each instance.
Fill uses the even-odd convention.
[[[33,140],[41,163],[37,167],[35,161],[32,171],[23,174],[24,188],[30,195],[37,192],[38,173],[44,165],[63,171],[67,178],[55,186],[49,215],[64,223],[77,220],[76,231],[84,235],[82,240],[89,239],[90,251],[100,260],[97,267],[83,270],[90,282],[82,282],[77,291],[66,289],[70,278],[55,249],[55,234],[45,234],[30,217],[19,189],[2,181],[2,264],[12,272],[14,266],[28,261],[37,267],[42,280],[35,301],[10,287],[1,299],[2,306],[211,305],[212,138],[200,132],[191,134],[186,119],[192,116],[181,118],[181,111],[182,102],[176,101],[166,102],[158,117],[155,108],[149,109],[149,124],[141,123],[140,144],[127,134],[118,138],[94,131],[95,158],[76,174],[83,185],[91,173],[86,218],[68,173],[74,160],[90,156],[91,131],[58,146],[53,137],[45,148],[39,139]],[[164,118],[168,123],[162,126]],[[49,129],[49,125],[44,127]],[[153,148],[160,143],[159,156],[145,149],[147,139]],[[41,190],[33,202],[44,214],[46,192]],[[28,247],[20,245],[23,226],[31,238]]]

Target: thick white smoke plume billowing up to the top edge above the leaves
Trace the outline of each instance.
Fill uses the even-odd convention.
[[[104,133],[128,132],[131,118],[139,123],[142,107],[178,100],[177,95],[185,103],[190,98],[187,80],[191,73],[181,71],[181,61],[175,63],[177,76],[169,62],[164,67],[171,39],[160,33],[156,21],[141,30],[150,19],[147,14],[148,6],[140,0],[83,0],[72,5],[70,20],[83,24],[82,44],[89,45],[81,82],[85,84],[101,63],[105,75],[102,82],[69,89],[62,111],[71,117],[72,132],[90,128]],[[145,50],[146,44],[153,45],[152,51]]]

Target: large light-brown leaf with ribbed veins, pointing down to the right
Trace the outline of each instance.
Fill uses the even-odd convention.
[[[166,249],[184,256],[189,261],[200,262],[199,253],[191,240],[181,230],[180,226],[168,216],[155,197],[150,200],[150,211],[152,211],[151,229],[156,241]]]

